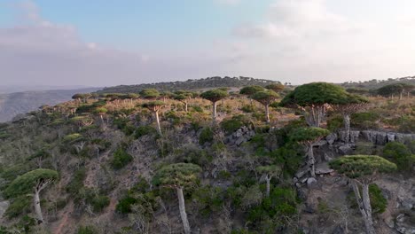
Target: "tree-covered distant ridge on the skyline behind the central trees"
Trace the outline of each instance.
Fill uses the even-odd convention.
[[[107,87],[103,90],[98,90],[98,93],[137,93],[144,89],[156,90],[202,90],[207,88],[219,87],[243,87],[247,85],[265,86],[276,81],[254,79],[252,77],[207,77],[198,80],[187,80],[185,82],[158,82],[158,83],[144,83],[136,85],[119,85],[114,87]]]

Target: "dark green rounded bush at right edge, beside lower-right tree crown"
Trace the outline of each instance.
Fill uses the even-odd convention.
[[[405,144],[389,142],[383,148],[382,157],[394,162],[400,171],[411,171],[415,161],[412,159],[411,151]]]

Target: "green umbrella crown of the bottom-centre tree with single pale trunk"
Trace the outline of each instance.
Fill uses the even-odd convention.
[[[153,176],[154,185],[184,187],[196,183],[201,168],[192,163],[170,164],[159,169]]]

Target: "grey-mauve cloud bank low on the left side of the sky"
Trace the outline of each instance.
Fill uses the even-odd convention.
[[[201,78],[220,61],[197,52],[156,55],[84,42],[73,26],[44,20],[32,1],[19,4],[20,23],[0,27],[0,81],[7,84],[93,85]]]

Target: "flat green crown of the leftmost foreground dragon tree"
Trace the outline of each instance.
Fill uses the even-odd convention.
[[[5,190],[4,196],[12,198],[13,196],[24,195],[33,191],[36,183],[43,180],[57,180],[58,172],[50,169],[35,169],[24,175],[18,176]]]

